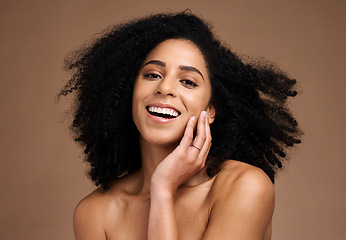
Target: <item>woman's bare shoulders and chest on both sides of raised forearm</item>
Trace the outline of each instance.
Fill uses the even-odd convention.
[[[76,239],[147,239],[150,197],[138,191],[141,178],[136,172],[83,199],[74,215]],[[267,240],[273,210],[268,177],[237,161],[206,182],[180,187],[175,196],[179,239]]]

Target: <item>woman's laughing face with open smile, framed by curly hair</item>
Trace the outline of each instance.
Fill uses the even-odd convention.
[[[202,53],[192,42],[170,39],[143,62],[134,85],[132,116],[140,137],[152,144],[177,144],[190,117],[213,110]]]

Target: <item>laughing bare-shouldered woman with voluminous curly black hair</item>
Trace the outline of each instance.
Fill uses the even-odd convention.
[[[76,239],[271,238],[275,173],[300,143],[295,80],[244,63],[210,28],[157,14],[67,61],[60,94],[76,93],[72,129],[101,186],[76,207]]]

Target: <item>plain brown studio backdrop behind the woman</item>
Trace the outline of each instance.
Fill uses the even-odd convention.
[[[190,8],[235,51],[299,80],[304,143],[275,185],[273,239],[345,239],[346,2],[124,2],[0,1],[0,238],[73,239],[73,209],[93,189],[62,122],[68,102],[55,102],[66,53],[110,24]]]

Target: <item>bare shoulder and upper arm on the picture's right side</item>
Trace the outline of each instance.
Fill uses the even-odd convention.
[[[261,169],[225,162],[210,196],[210,221],[203,239],[270,239],[274,187]]]

